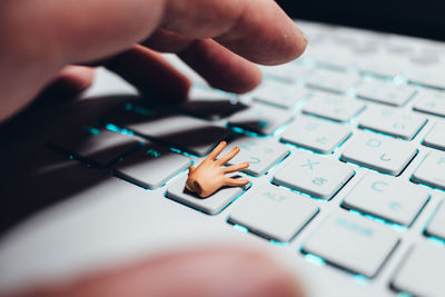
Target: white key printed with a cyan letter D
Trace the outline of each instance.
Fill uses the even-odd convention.
[[[364,132],[349,141],[340,159],[383,174],[398,176],[416,156],[417,149],[405,141]]]

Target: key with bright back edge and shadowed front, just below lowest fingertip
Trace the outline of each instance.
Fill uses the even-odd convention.
[[[218,120],[246,109],[237,97],[212,89],[192,88],[188,100],[178,108],[191,116]]]

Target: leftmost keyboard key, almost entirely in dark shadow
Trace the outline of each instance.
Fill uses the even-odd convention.
[[[63,133],[50,141],[50,147],[97,168],[110,166],[140,146],[135,137],[93,127]]]

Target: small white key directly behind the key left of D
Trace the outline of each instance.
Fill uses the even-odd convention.
[[[303,112],[346,122],[364,108],[365,103],[359,100],[318,92],[309,98],[309,101],[303,107]]]

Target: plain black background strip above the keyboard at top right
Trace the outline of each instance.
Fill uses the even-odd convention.
[[[293,18],[445,40],[445,0],[277,0]]]

